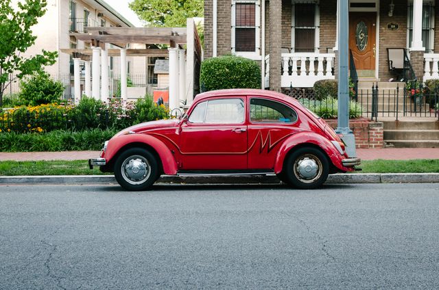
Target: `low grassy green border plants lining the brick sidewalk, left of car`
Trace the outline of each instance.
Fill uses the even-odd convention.
[[[101,150],[102,144],[118,130],[92,129],[82,132],[1,133],[1,152],[39,152],[69,150]]]

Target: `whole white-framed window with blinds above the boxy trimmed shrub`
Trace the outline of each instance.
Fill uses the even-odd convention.
[[[232,53],[250,57],[260,54],[260,14],[259,0],[232,1]]]

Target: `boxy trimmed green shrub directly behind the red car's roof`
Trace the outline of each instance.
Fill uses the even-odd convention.
[[[234,55],[212,57],[201,64],[202,92],[232,88],[261,88],[261,68],[252,60]]]

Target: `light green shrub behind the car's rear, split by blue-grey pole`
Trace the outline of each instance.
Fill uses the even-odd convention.
[[[338,101],[336,98],[327,97],[320,101],[301,98],[298,100],[302,105],[324,119],[337,118]],[[363,107],[356,101],[349,103],[349,118],[359,118],[363,113]]]

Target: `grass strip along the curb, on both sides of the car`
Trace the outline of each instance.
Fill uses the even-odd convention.
[[[438,159],[365,160],[362,173],[439,173]],[[357,171],[358,172],[358,171]],[[0,176],[14,175],[95,175],[104,174],[88,168],[86,160],[76,161],[0,161]]]

